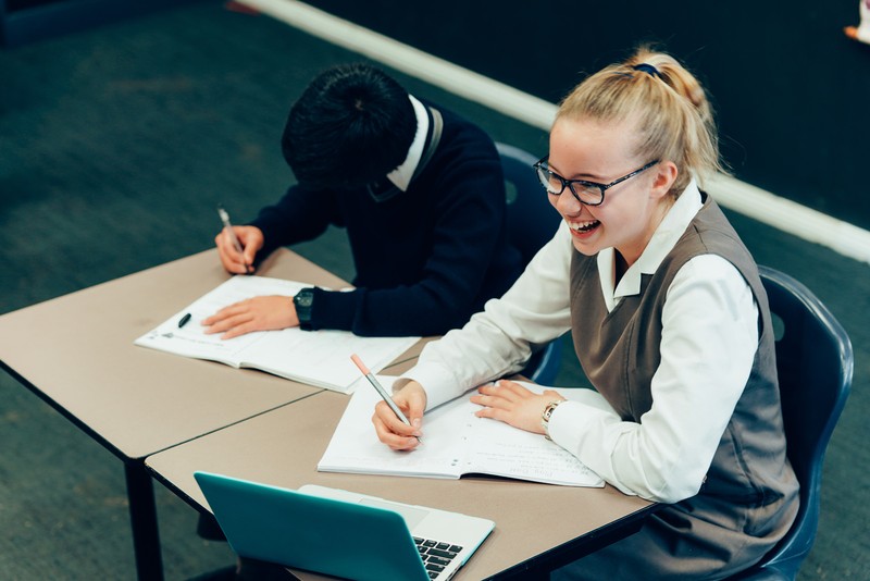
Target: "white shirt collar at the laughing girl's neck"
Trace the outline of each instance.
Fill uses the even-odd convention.
[[[598,252],[598,277],[601,282],[601,292],[605,296],[608,310],[616,307],[617,300],[622,297],[636,295],[641,292],[641,275],[652,274],[658,270],[661,261],[673,250],[680,237],[695,219],[695,214],[704,203],[700,190],[695,180],[692,180],[683,193],[676,198],[661,223],[656,228],[649,244],[646,245],[641,258],[632,264],[613,288],[613,248],[605,248]]]

